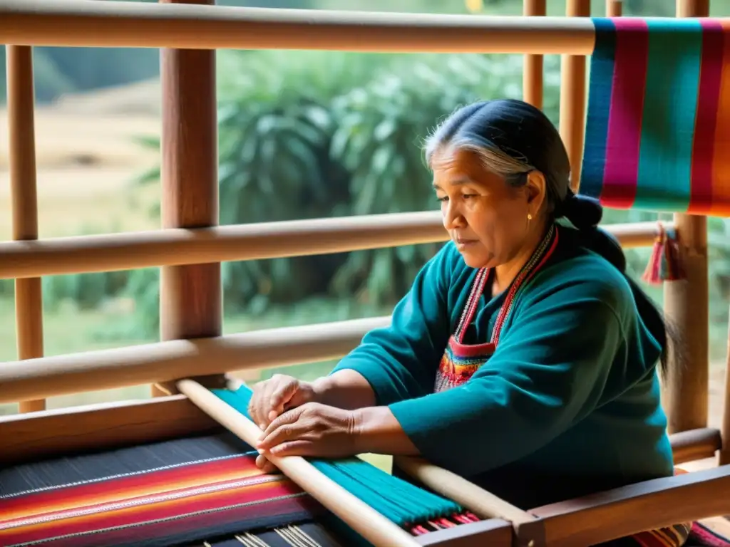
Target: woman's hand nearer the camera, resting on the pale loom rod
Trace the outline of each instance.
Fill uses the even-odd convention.
[[[320,403],[305,403],[274,419],[266,427],[257,449],[263,451],[256,465],[266,471],[274,456],[314,456],[338,458],[357,454],[357,427],[353,411]]]

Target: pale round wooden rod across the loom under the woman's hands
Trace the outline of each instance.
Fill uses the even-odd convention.
[[[188,399],[212,419],[250,446],[255,446],[258,439],[261,438],[262,431],[253,422],[196,381],[178,381],[177,389],[187,395]],[[269,460],[282,473],[299,484],[302,489],[309,492],[319,503],[339,516],[342,521],[345,521],[375,547],[418,546],[418,542],[404,529],[399,528],[362,500],[347,492],[306,459],[298,456],[276,457],[271,454]]]

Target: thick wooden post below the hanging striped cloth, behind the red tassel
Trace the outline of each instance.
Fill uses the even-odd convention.
[[[708,0],[677,0],[677,17],[707,17]],[[675,214],[686,279],[664,283],[664,314],[685,345],[686,362],[672,357],[662,399],[670,433],[707,427],[710,357],[707,218]]]

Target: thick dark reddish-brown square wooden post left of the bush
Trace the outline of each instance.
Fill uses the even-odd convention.
[[[215,0],[161,0],[215,4]],[[218,225],[215,50],[161,50],[163,228]],[[169,266],[160,274],[162,340],[221,333],[220,263]],[[153,395],[174,392],[170,384]]]

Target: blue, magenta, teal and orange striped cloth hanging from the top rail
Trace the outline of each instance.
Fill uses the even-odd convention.
[[[595,18],[580,193],[730,215],[730,21]]]

